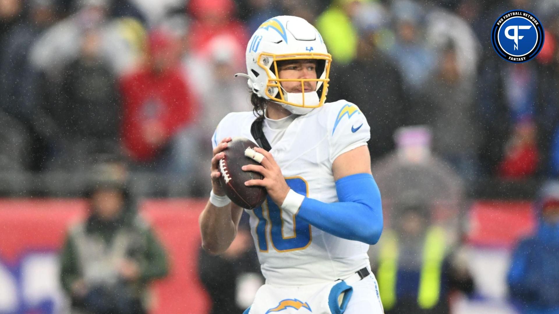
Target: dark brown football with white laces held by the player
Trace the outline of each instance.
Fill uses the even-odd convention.
[[[260,173],[241,169],[242,166],[248,164],[259,165],[257,161],[245,156],[247,148],[255,147],[258,145],[249,139],[234,137],[224,150],[224,158],[219,162],[221,172],[219,182],[225,194],[233,203],[249,210],[260,206],[268,195],[264,187],[244,185],[248,180],[264,178]]]

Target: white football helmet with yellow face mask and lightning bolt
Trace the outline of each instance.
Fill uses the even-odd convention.
[[[277,61],[316,60],[316,79],[280,79]],[[332,58],[318,30],[303,18],[276,16],[262,23],[247,45],[248,86],[257,96],[280,103],[297,115],[320,107],[328,93]],[[288,93],[280,82],[301,82],[302,93]],[[315,81],[316,90],[306,92],[304,82]],[[320,95],[320,96],[319,96]]]

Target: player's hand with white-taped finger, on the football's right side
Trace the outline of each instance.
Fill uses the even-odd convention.
[[[264,155],[264,159],[262,159],[260,165],[244,165],[242,169],[244,171],[258,172],[264,176],[264,179],[248,180],[245,182],[245,185],[248,187],[252,185],[265,187],[268,191],[268,195],[272,198],[272,201],[274,201],[274,203],[278,206],[281,206],[283,204],[283,200],[287,196],[287,192],[289,192],[289,186],[287,185],[287,182],[285,182],[285,178],[283,178],[280,166],[276,163],[272,154],[270,154],[267,150],[259,147],[254,148],[254,150],[257,151],[257,153]]]

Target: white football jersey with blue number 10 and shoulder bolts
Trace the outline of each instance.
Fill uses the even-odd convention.
[[[250,134],[253,112],[229,113],[212,137]],[[346,151],[366,145],[369,125],[359,108],[347,101],[325,103],[297,117],[270,151],[293,191],[325,203],[338,202],[332,163]],[[247,210],[254,244],[266,283],[300,286],[344,279],[368,267],[368,244],[330,235],[297,215],[288,215],[268,197]]]

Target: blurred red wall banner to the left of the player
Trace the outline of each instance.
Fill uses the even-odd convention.
[[[198,281],[197,271],[200,248],[198,215],[205,204],[204,199],[165,199],[141,203],[141,215],[153,225],[170,259],[169,277],[154,284],[153,314],[200,314],[209,311],[209,298]],[[45,283],[36,287],[37,283],[26,280],[21,272],[29,268],[29,263],[24,261],[29,260],[30,255],[55,256],[68,227],[86,217],[86,208],[87,204],[82,199],[0,200],[0,291],[13,292],[7,293],[13,295],[12,301],[6,298],[7,301],[0,302],[3,304],[0,305],[0,313],[54,314],[59,311],[57,309],[61,305],[55,304],[61,302],[56,297],[60,295],[59,284]],[[26,264],[25,267],[22,264]],[[51,268],[45,270],[52,272]],[[41,272],[40,269],[35,271]],[[55,280],[58,275],[45,278]],[[44,287],[56,287],[58,292],[53,291],[49,296]],[[30,292],[37,289],[42,289],[41,293]],[[26,296],[26,293],[34,296]],[[37,301],[37,295],[46,299]]]

